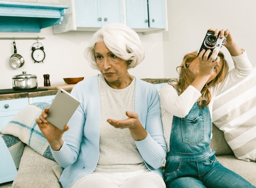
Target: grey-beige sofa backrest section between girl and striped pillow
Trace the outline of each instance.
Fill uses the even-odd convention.
[[[227,144],[224,133],[222,130],[217,128],[214,124],[212,124],[212,134],[213,137],[211,139],[210,147],[211,149],[216,151],[216,155],[225,155],[225,154],[233,154],[234,152],[231,150],[229,145]]]

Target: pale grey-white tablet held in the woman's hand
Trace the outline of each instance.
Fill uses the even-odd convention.
[[[47,121],[63,130],[80,105],[80,101],[63,89],[59,89],[49,107]]]

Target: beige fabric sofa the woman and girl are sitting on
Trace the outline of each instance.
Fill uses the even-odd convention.
[[[256,186],[256,163],[239,160],[227,144],[224,134],[213,124],[211,148],[216,151],[218,161],[225,167],[238,173]],[[25,145],[20,159],[19,169],[13,181],[13,188],[61,188],[58,182],[62,168],[52,159],[48,159]]]

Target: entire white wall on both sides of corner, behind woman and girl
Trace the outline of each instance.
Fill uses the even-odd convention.
[[[144,61],[130,69],[139,78],[177,77],[176,67],[184,54],[197,50],[208,28],[230,29],[240,47],[247,50],[249,59],[256,65],[256,1],[254,0],[167,0],[168,32],[139,34],[145,48]],[[98,73],[89,67],[84,57],[85,47],[93,32],[67,32],[54,35],[52,27],[40,33],[0,33],[0,37],[45,37],[39,40],[45,48],[44,63],[34,63],[31,46],[36,40],[16,40],[17,53],[25,58],[19,69],[9,66],[13,54],[13,40],[0,40],[0,89],[12,88],[12,76],[26,71],[38,76],[43,86],[43,74],[50,74],[51,85],[65,84],[62,78],[89,78]],[[222,51],[231,61],[225,47]]]

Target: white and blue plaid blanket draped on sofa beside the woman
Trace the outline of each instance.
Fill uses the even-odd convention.
[[[38,102],[25,106],[0,132],[17,169],[25,144],[44,157],[55,161],[49,143],[35,122],[42,110],[50,104],[51,102]]]

